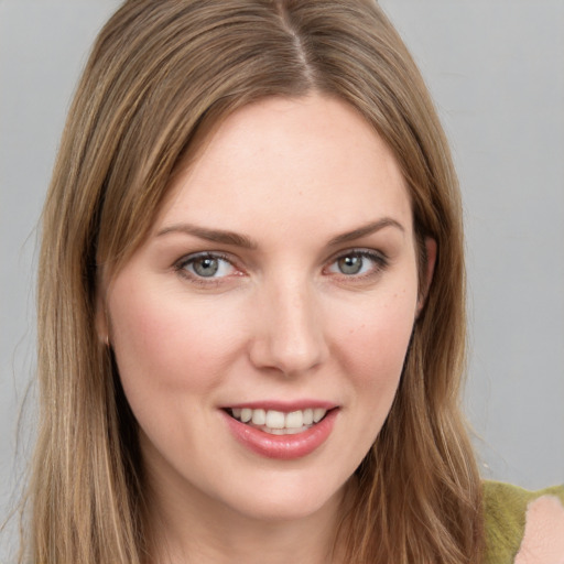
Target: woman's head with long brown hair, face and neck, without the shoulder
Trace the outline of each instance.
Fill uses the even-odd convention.
[[[43,237],[32,561],[482,562],[456,177],[371,2],[126,2]]]

